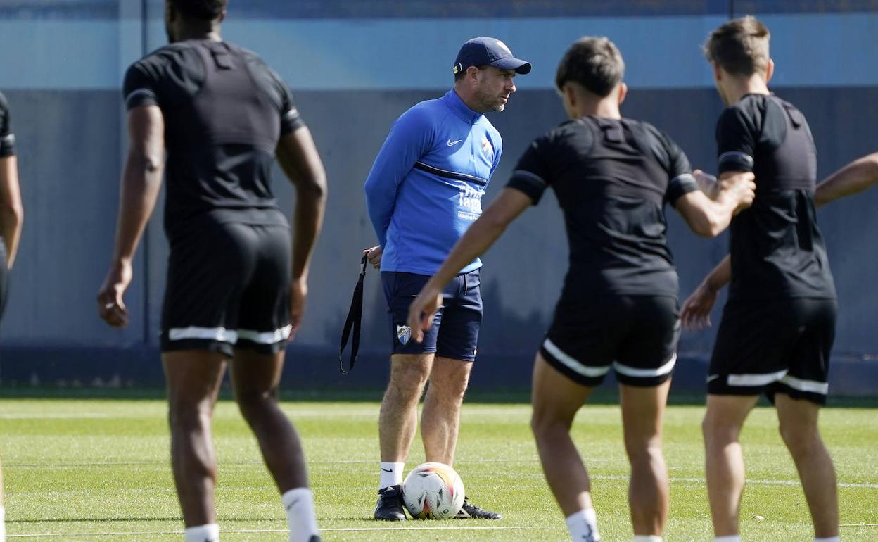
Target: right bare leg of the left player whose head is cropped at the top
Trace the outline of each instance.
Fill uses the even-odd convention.
[[[299,435],[277,404],[277,386],[283,368],[283,350],[277,354],[234,350],[231,371],[234,397],[241,416],[259,442],[265,466],[281,494],[308,486]]]

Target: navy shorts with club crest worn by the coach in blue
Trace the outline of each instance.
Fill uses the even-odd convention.
[[[407,325],[408,307],[427,284],[429,275],[399,271],[381,271],[390,315],[394,354],[435,353],[442,358],[474,361],[482,324],[482,295],[479,270],[457,275],[443,289],[443,304],[436,311],[433,326],[424,340],[412,340]]]

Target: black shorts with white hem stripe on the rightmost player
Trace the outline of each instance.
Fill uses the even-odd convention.
[[[836,300],[730,300],[716,334],[708,393],[781,392],[825,404]]]

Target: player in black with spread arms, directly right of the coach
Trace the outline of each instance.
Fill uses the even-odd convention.
[[[745,173],[727,179],[716,200],[709,199],[669,137],[624,119],[623,69],[606,38],[582,38],[568,49],[556,85],[571,120],[530,144],[507,187],[430,278],[408,317],[419,340],[442,304],[442,285],[554,189],[570,268],[536,355],[532,427],[573,540],[600,537],[570,427],[611,368],[620,383],[634,533],[660,539],[668,504],[661,426],[680,329],[664,206],[676,208],[696,233],[717,235],[753,196],[752,174]]]

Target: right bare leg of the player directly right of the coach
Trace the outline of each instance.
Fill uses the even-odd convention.
[[[662,453],[668,379],[656,387],[619,385],[625,452],[631,464],[628,504],[636,535],[659,535],[667,521],[667,467]]]

